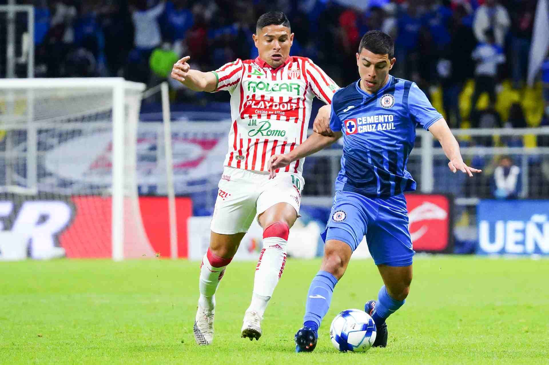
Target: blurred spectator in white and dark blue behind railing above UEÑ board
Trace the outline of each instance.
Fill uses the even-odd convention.
[[[517,199],[522,191],[520,168],[509,156],[502,156],[492,176],[492,195],[496,199]]]

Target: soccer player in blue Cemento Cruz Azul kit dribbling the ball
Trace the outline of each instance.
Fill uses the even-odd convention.
[[[452,172],[470,177],[481,172],[463,162],[446,121],[417,85],[389,75],[393,55],[389,35],[367,32],[356,54],[360,79],[334,94],[329,126],[315,123],[316,133],[303,144],[270,159],[273,177],[276,169],[344,139],[334,205],[322,233],[324,258],[307,293],[303,327],[295,334],[297,352],[315,349],[334,287],[364,236],[384,283],[378,300],[368,301],[365,311],[377,327],[373,346],[387,345],[385,320],[404,304],[412,282],[414,250],[404,192],[416,190],[416,181],[406,171],[416,127],[439,140]]]

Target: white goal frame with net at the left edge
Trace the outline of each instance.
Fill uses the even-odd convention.
[[[143,89],[0,79],[0,259],[154,256],[136,181]]]

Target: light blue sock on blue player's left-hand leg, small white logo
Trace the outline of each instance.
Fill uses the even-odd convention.
[[[322,318],[328,313],[332,293],[337,283],[338,280],[331,273],[322,270],[317,272],[309,287],[309,293],[307,293],[303,327],[318,330]]]

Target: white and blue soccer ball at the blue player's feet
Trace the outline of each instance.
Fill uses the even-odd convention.
[[[376,340],[376,323],[360,309],[348,309],[330,324],[330,339],[339,351],[366,352]]]

